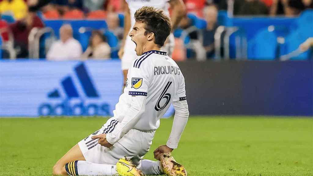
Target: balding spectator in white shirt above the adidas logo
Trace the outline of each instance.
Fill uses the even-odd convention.
[[[71,25],[64,24],[60,28],[60,40],[54,42],[48,51],[48,60],[79,60],[82,54],[82,47],[73,38]]]

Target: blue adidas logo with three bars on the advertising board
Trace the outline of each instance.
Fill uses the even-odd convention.
[[[42,103],[38,107],[39,116],[110,115],[110,106],[108,103],[94,103],[94,101],[100,100],[100,95],[96,90],[84,63],[75,66],[74,72],[80,86],[75,85],[73,76],[66,76],[63,78],[61,80],[61,87],[64,96],[61,96],[61,90],[59,89],[54,89],[48,92],[47,96],[51,101]],[[80,95],[78,87],[81,87],[83,95]],[[85,100],[93,100],[93,102],[86,103]],[[57,103],[55,103],[56,101]]]

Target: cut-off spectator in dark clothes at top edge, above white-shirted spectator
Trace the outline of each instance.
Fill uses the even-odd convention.
[[[83,9],[82,0],[54,0],[53,3],[61,15],[73,9]]]

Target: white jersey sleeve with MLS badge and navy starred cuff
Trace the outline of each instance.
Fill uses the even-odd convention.
[[[135,60],[127,75],[129,95],[132,96],[147,96],[148,88],[151,82],[151,69],[149,69],[148,62],[141,62],[142,60]]]

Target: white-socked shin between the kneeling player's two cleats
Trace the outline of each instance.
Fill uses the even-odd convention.
[[[160,161],[151,161],[148,159],[141,160],[141,171],[145,175],[160,175],[164,174]]]

